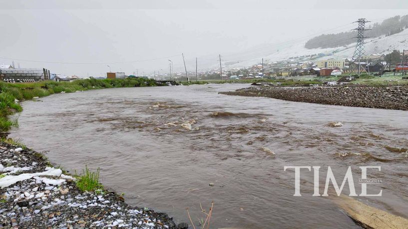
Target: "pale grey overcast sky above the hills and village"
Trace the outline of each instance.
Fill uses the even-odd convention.
[[[24,68],[81,77],[102,76],[107,65],[126,74],[168,72],[168,59],[182,71],[181,53],[187,70],[195,71],[196,57],[207,66],[216,64],[218,54],[240,60],[237,54],[251,54],[254,47],[349,31],[361,17],[381,22],[408,14],[407,0],[0,0],[0,5],[0,64],[14,60]]]

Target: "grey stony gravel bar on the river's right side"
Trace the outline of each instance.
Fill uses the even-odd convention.
[[[234,92],[221,92],[220,94],[233,96],[268,97],[280,100],[315,104],[408,111],[407,86],[259,86],[238,89]]]

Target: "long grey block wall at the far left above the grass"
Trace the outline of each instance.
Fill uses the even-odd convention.
[[[49,70],[45,68],[0,68],[0,80],[26,82],[50,79]]]

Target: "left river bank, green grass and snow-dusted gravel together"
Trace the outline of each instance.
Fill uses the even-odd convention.
[[[89,173],[97,190],[81,188],[76,179],[53,168],[42,154],[6,139],[18,126],[11,114],[21,112],[21,100],[103,88],[169,85],[150,79],[42,81],[0,83],[0,227],[1,228],[184,228],[165,213],[127,205],[124,198],[99,183],[99,171]],[[6,143],[8,142],[8,143]],[[11,144],[9,144],[11,143]],[[76,174],[76,172],[75,172]],[[89,177],[86,177],[89,178]],[[87,184],[86,184],[87,185]],[[85,189],[85,190],[84,190]]]

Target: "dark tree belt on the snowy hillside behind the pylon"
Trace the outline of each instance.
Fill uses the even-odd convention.
[[[357,24],[356,24],[357,26]],[[374,23],[367,28],[366,37],[379,37],[382,35],[390,36],[408,28],[408,15],[394,16],[384,20],[382,23]],[[357,36],[357,31],[341,32],[336,34],[322,34],[308,40],[305,48],[335,48],[343,45],[348,45],[356,42],[354,39]]]

